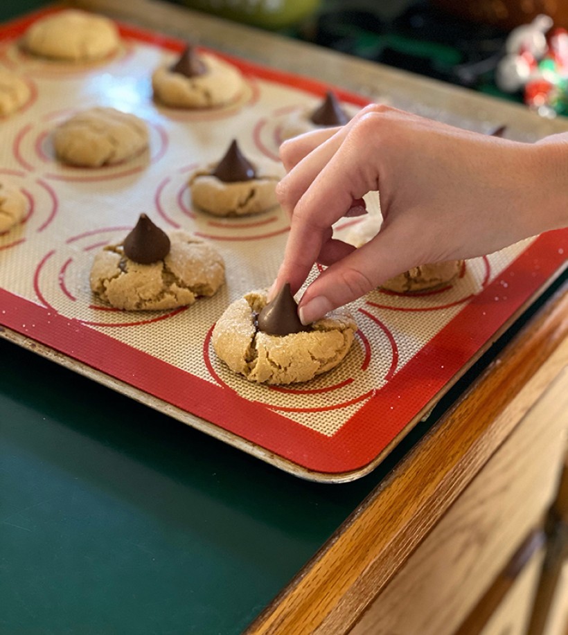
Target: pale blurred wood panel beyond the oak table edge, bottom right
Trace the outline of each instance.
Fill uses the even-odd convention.
[[[565,372],[524,416],[351,634],[456,632],[526,536],[542,526],[556,496],[567,430]],[[522,590],[515,591],[515,599],[507,594],[515,611],[520,598],[531,600],[531,591],[535,591],[538,565],[531,564],[530,570],[522,576],[523,582],[517,582]],[[523,608],[528,616],[530,604]],[[504,615],[495,619],[506,621],[506,612],[503,607]],[[515,620],[519,618],[515,616]]]

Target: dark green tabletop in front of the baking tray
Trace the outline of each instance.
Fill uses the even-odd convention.
[[[392,467],[279,472],[0,340],[0,632],[239,633]]]

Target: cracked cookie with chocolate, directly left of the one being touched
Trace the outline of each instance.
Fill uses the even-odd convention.
[[[125,255],[127,240],[134,231],[123,242],[99,251],[91,268],[92,291],[113,307],[131,311],[173,309],[193,304],[200,296],[212,296],[224,283],[222,256],[208,242],[186,231],[172,231],[167,235],[168,253],[143,264]],[[134,253],[140,250],[134,249]]]

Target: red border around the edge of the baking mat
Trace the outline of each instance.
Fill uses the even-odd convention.
[[[0,28],[16,37],[48,8]],[[124,26],[121,34],[147,44],[181,51],[184,42]],[[258,78],[323,94],[328,84],[267,69],[221,55]],[[335,87],[334,87],[335,89]],[[337,89],[341,99],[364,105],[365,98]],[[321,474],[355,472],[369,465],[404,431],[411,420],[461,373],[511,316],[531,300],[565,263],[568,229],[536,238],[504,271],[454,316],[382,388],[332,436],[326,436],[280,415],[269,406],[240,397],[230,388],[207,382],[145,352],[54,314],[41,305],[0,289],[0,323],[27,338],[87,364],[106,375],[154,395],[182,411],[197,415],[290,462]],[[507,300],[495,301],[507,285]],[[208,341],[204,346],[207,346]],[[404,399],[400,399],[404,395]],[[227,420],[230,413],[230,420]]]

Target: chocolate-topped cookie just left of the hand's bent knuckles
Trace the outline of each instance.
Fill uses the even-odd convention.
[[[194,206],[215,216],[245,216],[278,204],[280,178],[274,168],[245,159],[233,140],[221,161],[195,170],[188,183]]]

